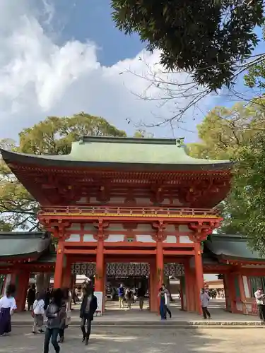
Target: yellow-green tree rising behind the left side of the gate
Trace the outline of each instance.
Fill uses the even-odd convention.
[[[126,136],[107,120],[81,112],[73,116],[49,116],[32,128],[25,128],[18,146],[2,140],[1,148],[35,155],[63,155],[71,151],[71,143],[83,135]],[[39,205],[0,160],[0,230],[35,230]]]

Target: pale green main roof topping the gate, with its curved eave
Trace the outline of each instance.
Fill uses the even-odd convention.
[[[112,138],[88,136],[72,143],[69,155],[27,155],[1,150],[4,160],[13,160],[35,164],[71,165],[85,167],[114,167],[114,164],[131,164],[141,168],[164,169],[165,165],[173,169],[228,169],[232,162],[228,160],[204,160],[189,157],[182,140],[158,138]],[[153,167],[152,167],[153,166]],[[159,167],[160,166],[160,167]],[[164,167],[163,167],[164,166]],[[116,165],[117,167],[117,165]]]

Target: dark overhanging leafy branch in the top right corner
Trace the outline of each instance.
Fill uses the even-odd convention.
[[[138,33],[148,50],[160,49],[166,69],[192,72],[217,90],[232,83],[236,63],[257,45],[264,1],[112,0],[112,8],[117,28]]]

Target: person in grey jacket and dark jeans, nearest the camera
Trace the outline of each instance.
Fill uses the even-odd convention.
[[[47,307],[46,316],[47,324],[45,331],[45,342],[43,353],[49,353],[49,341],[52,339],[52,345],[56,353],[60,352],[60,346],[57,342],[59,328],[61,325],[61,317],[64,315],[62,308],[63,292],[61,289],[52,291],[52,301]]]

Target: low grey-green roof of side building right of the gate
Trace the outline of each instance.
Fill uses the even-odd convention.
[[[212,234],[211,240],[205,241],[204,245],[218,258],[265,261],[265,257],[260,256],[257,251],[249,249],[247,239],[240,235]]]

